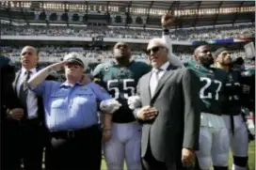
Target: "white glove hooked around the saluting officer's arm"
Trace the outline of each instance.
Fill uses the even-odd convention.
[[[120,102],[118,100],[110,99],[110,100],[103,100],[100,103],[100,109],[109,114],[113,114],[117,110],[120,109]]]

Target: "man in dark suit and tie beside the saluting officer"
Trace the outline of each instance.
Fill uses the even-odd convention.
[[[22,68],[16,72],[13,88],[18,99],[22,103],[24,115],[13,114],[13,135],[16,136],[17,150],[16,166],[24,169],[40,170],[42,163],[42,149],[46,140],[44,129],[42,100],[34,92],[29,90],[26,81],[37,71],[39,52],[32,46],[25,46],[20,55]],[[53,77],[52,77],[53,78]]]

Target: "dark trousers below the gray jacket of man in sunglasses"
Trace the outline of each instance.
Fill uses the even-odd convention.
[[[175,163],[169,164],[155,160],[150,146],[147,149],[145,157],[141,159],[142,170],[176,170]]]

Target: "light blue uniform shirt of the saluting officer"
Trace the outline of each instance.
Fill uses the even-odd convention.
[[[42,96],[49,131],[83,129],[97,124],[97,102],[111,99],[104,88],[95,83],[71,86],[44,81],[32,90]]]

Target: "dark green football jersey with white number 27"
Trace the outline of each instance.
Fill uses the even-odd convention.
[[[216,68],[205,68],[194,60],[184,63],[184,66],[193,70],[200,79],[201,112],[221,115],[227,72]]]

